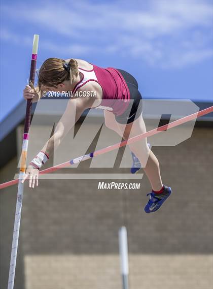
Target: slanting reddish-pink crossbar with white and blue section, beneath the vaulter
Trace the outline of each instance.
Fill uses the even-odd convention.
[[[92,157],[97,156],[97,155],[104,154],[106,152],[112,151],[112,150],[117,149],[119,147],[126,146],[128,144],[134,143],[134,142],[139,141],[141,139],[154,136],[154,135],[156,135],[156,134],[158,134],[160,132],[167,131],[167,130],[171,129],[172,127],[178,126],[180,124],[183,124],[183,123],[188,122],[190,120],[196,119],[197,117],[203,116],[203,115],[211,113],[211,112],[213,112],[213,106],[210,106],[210,107],[205,108],[205,109],[203,109],[203,110],[201,110],[199,112],[196,112],[196,113],[190,114],[188,116],[185,116],[183,118],[180,118],[180,119],[177,119],[175,121],[172,121],[171,123],[168,123],[168,124],[162,125],[160,127],[157,127],[157,129],[154,129],[154,130],[151,130],[151,131],[149,131],[147,133],[135,136],[133,138],[128,139],[127,141],[123,141],[121,143],[117,143],[117,144],[114,144],[114,145],[111,145],[111,146],[96,150],[96,151],[91,152],[89,154],[85,154],[85,155],[76,157],[74,159],[68,160],[68,162],[65,162],[65,163],[56,165],[54,167],[42,170],[42,171],[39,172],[39,174],[52,173],[52,172],[55,172],[55,171],[57,171],[59,169],[67,168],[70,165],[83,162],[83,160],[92,158]],[[8,186],[15,185],[18,182],[19,182],[19,179],[15,179],[15,180],[12,180],[12,181],[9,181],[9,182],[2,183],[2,184],[0,184],[0,189],[6,188]]]

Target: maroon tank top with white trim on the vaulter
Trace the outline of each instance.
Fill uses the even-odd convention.
[[[79,70],[83,74],[83,79],[75,85],[73,94],[87,82],[96,81],[102,87],[103,95],[100,105],[95,108],[110,110],[116,115],[125,112],[129,105],[130,92],[122,74],[117,69],[93,65],[92,70],[82,68]]]

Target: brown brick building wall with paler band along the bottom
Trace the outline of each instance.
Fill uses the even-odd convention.
[[[41,137],[49,129],[36,130]],[[92,124],[85,134],[90,130]],[[210,289],[212,140],[211,129],[195,128],[177,146],[152,148],[163,183],[173,190],[156,214],[144,212],[146,176],[140,190],[125,192],[98,190],[98,180],[40,180],[34,190],[25,185],[15,288],[121,288],[118,229],[125,222],[131,288]],[[35,139],[32,150],[42,145]],[[88,163],[78,172],[88,172]],[[15,160],[1,171],[1,182],[13,178],[14,166]],[[16,189],[0,192],[1,288],[8,278]]]

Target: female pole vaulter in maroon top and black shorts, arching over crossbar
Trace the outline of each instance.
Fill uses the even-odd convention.
[[[32,99],[37,102],[43,91],[72,91],[72,95],[84,91],[89,97],[75,97],[68,101],[55,133],[26,170],[22,182],[29,177],[31,188],[34,188],[35,184],[38,186],[39,169],[47,162],[53,149],[57,149],[67,132],[88,108],[103,109],[105,125],[125,140],[146,133],[138,84],[126,71],[100,68],[82,59],[48,58],[39,70],[38,87],[33,90],[27,85],[23,97],[25,100]],[[95,97],[90,95],[94,91]],[[76,115],[75,121],[70,118],[72,114]],[[135,173],[143,167],[152,187],[152,191],[147,194],[150,198],[145,212],[155,212],[170,196],[171,188],[162,183],[159,162],[150,150],[147,138],[129,144],[129,147],[133,157],[131,172]]]

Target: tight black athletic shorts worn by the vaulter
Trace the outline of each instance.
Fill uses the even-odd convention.
[[[121,115],[115,115],[117,122],[121,124],[127,124],[133,122],[137,119],[142,113],[142,97],[138,91],[138,84],[136,79],[128,72],[117,69],[122,74],[130,92],[130,101],[129,106],[126,111]]]

